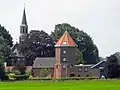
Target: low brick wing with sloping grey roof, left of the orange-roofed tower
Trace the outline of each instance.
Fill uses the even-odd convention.
[[[54,74],[55,58],[36,58],[32,67],[34,77],[47,77]]]

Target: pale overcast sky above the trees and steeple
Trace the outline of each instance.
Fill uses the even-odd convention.
[[[0,0],[0,24],[19,41],[24,3],[30,30],[69,23],[89,34],[101,57],[120,52],[120,0]]]

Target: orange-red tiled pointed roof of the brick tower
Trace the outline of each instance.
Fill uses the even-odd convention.
[[[68,34],[67,31],[63,36],[58,40],[55,46],[77,46],[72,37]]]

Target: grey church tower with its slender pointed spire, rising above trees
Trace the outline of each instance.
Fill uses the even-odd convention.
[[[20,25],[19,43],[25,43],[27,39],[28,39],[28,25],[27,25],[26,13],[25,13],[25,8],[24,8],[22,23]]]

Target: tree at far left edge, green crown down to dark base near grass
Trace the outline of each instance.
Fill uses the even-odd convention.
[[[12,37],[9,32],[0,25],[0,79],[5,79],[3,63],[11,55]]]

